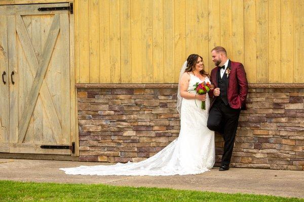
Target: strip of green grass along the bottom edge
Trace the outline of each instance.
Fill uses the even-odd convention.
[[[225,194],[103,184],[57,184],[0,180],[0,201],[304,201],[254,194]]]

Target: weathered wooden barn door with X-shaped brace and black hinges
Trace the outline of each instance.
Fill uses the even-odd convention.
[[[62,149],[71,144],[69,11],[45,9],[68,6],[0,7],[8,38],[9,93],[2,91],[9,94],[10,153],[71,154]]]

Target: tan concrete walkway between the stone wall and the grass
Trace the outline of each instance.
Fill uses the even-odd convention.
[[[0,179],[33,182],[109,184],[166,187],[224,193],[255,193],[304,198],[304,171],[218,167],[199,175],[183,176],[88,176],[66,175],[59,168],[101,165],[92,162],[0,159]],[[103,164],[107,165],[107,164]]]

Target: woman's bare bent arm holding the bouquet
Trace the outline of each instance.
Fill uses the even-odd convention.
[[[189,86],[189,80],[190,75],[188,73],[183,73],[183,75],[180,78],[179,82],[179,90],[180,90],[180,96],[185,99],[200,99],[200,100],[206,100],[206,94],[200,95],[200,94],[193,94],[189,93],[188,86]]]

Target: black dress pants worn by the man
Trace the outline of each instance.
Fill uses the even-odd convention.
[[[239,116],[240,110],[226,106],[219,97],[209,111],[207,127],[221,133],[225,141],[221,165],[230,164]]]

